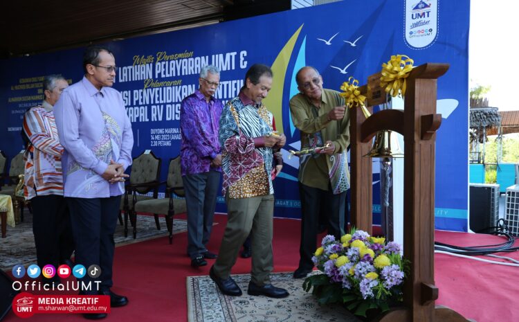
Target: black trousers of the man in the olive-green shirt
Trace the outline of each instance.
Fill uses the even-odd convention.
[[[317,249],[319,213],[322,210],[327,216],[328,234],[340,239],[344,233],[346,192],[334,195],[331,189],[321,190],[299,183],[299,193],[302,211],[299,268],[310,270],[311,258]]]

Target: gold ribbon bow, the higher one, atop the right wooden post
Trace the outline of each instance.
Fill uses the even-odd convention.
[[[385,87],[386,93],[393,97],[406,94],[406,78],[414,62],[406,55],[392,55],[387,64],[382,64],[380,85]]]

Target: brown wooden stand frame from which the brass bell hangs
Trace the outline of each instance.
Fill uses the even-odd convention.
[[[403,256],[411,263],[404,284],[403,307],[374,321],[467,321],[446,307],[435,307],[438,288],[434,280],[435,242],[435,133],[441,124],[436,114],[437,78],[448,64],[423,64],[410,72],[404,110],[387,109],[365,118],[360,108],[351,113],[352,225],[372,233],[372,160],[376,132],[390,129],[404,139]],[[361,87],[367,92],[367,85]],[[368,101],[369,105],[369,101]]]

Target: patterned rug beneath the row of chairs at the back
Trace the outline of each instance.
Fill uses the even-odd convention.
[[[124,219],[124,217],[123,217]],[[116,247],[133,244],[134,242],[143,242],[153,238],[167,236],[167,227],[164,216],[159,217],[161,230],[157,230],[154,217],[138,215],[137,216],[137,238],[132,235],[132,227],[128,223],[128,237],[125,238],[124,226],[118,222],[116,233],[113,239]],[[185,220],[173,220],[173,234],[188,231],[188,223]],[[165,240],[167,243],[167,239]],[[27,265],[36,262],[36,249],[33,235],[33,215],[28,211],[24,212],[24,222],[17,224],[14,228],[8,226],[7,237],[0,238],[0,269],[11,270],[17,264]]]

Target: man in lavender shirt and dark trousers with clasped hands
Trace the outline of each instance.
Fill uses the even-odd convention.
[[[134,136],[119,91],[112,89],[116,60],[109,49],[86,48],[84,77],[66,88],[55,105],[55,118],[62,157],[64,196],[71,211],[75,262],[89,269],[99,265],[100,276],[81,278],[91,283],[85,295],[109,295],[111,307],[128,303],[125,296],[111,292],[113,232],[120,198],[125,192],[125,169],[131,165]],[[95,270],[97,271],[97,270]],[[105,313],[84,314],[102,319]]]

